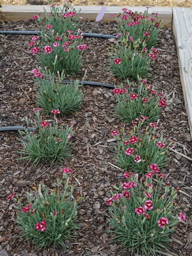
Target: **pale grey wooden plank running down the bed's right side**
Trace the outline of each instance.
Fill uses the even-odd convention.
[[[192,13],[173,7],[173,33],[177,45],[181,85],[192,137]]]

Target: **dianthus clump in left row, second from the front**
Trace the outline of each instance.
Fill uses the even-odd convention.
[[[41,108],[34,109],[36,113],[35,128],[36,132],[30,131],[30,119],[25,118],[25,131],[19,131],[23,135],[20,139],[23,149],[19,153],[23,154],[20,159],[32,161],[32,164],[38,164],[41,160],[45,162],[63,162],[71,155],[70,137],[73,134],[72,126],[58,126],[56,115],[60,112],[59,109],[52,109],[53,122],[42,120],[40,115]],[[52,124],[51,124],[52,123]]]

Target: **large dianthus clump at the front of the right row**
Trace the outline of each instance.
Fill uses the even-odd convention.
[[[138,181],[138,175],[124,173],[128,180],[119,188],[114,187],[105,201],[109,205],[110,232],[131,254],[149,256],[167,249],[169,235],[175,231],[178,219],[185,220],[183,213],[176,213],[176,190],[169,184],[164,187],[165,175],[161,178],[158,175],[154,185],[151,178]]]

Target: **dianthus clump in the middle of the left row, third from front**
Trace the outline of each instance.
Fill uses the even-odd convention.
[[[66,115],[78,111],[82,104],[83,93],[79,81],[65,84],[62,82],[63,78],[62,74],[58,75],[58,78],[53,74],[36,78],[37,105],[46,113],[50,113],[52,109],[59,109],[62,115]]]

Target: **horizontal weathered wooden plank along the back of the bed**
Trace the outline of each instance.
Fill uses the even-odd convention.
[[[2,6],[2,17],[4,21],[7,20],[21,20],[30,19],[34,15],[41,13],[43,15],[45,7],[46,11],[49,12],[49,6],[41,5],[3,5]],[[95,20],[99,11],[100,6],[74,6],[77,11],[81,9],[81,16],[83,19]],[[145,6],[124,6],[132,11],[145,11]],[[113,13],[122,13],[122,6],[107,6],[107,11],[102,21],[113,21],[114,17],[110,15]],[[171,27],[172,25],[172,7],[160,7],[154,6],[149,8],[149,14],[159,13],[158,18],[163,19],[163,23],[166,26]]]

